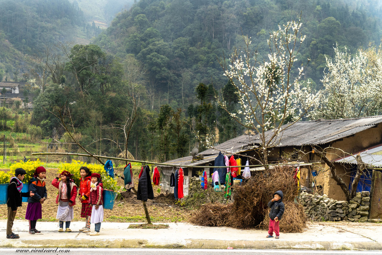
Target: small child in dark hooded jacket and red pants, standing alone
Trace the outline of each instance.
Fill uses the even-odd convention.
[[[279,239],[279,221],[283,217],[285,206],[283,203],[283,191],[279,190],[273,194],[273,199],[269,201],[268,207],[271,208],[269,212],[269,230],[267,238],[273,237],[273,232],[275,231],[276,239]]]

